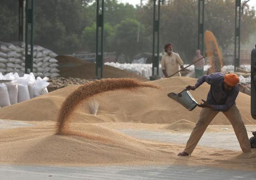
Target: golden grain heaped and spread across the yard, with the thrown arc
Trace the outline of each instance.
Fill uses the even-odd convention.
[[[192,156],[182,158],[177,154],[184,149],[184,144],[146,141],[120,132],[120,129],[167,131],[175,132],[173,135],[177,138],[178,133],[188,133],[194,127],[201,108],[189,112],[168,98],[167,94],[180,92],[195,82],[195,78],[188,77],[165,78],[147,83],[132,79],[105,79],[85,85],[67,86],[0,108],[0,119],[32,124],[28,127],[0,129],[0,164],[173,164],[255,171],[256,149],[252,149],[250,154],[242,154],[241,151],[198,146]],[[201,100],[206,98],[208,90],[209,85],[204,83],[191,94],[196,100]],[[96,116],[89,111],[90,100],[100,104]],[[250,96],[239,93],[236,103],[246,126],[253,126],[247,130],[255,129],[256,121],[250,115]],[[222,127],[228,127],[228,130],[220,129]],[[209,130],[211,133],[232,132],[232,126],[219,113],[206,129]]]

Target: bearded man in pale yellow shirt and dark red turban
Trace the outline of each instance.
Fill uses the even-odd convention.
[[[172,52],[173,45],[172,43],[168,43],[164,46],[164,50],[166,54],[162,57],[161,65],[162,71],[166,78],[170,77],[173,73],[179,70],[179,67],[184,69],[183,61],[178,55],[178,53]],[[173,75],[181,76],[180,72]]]

